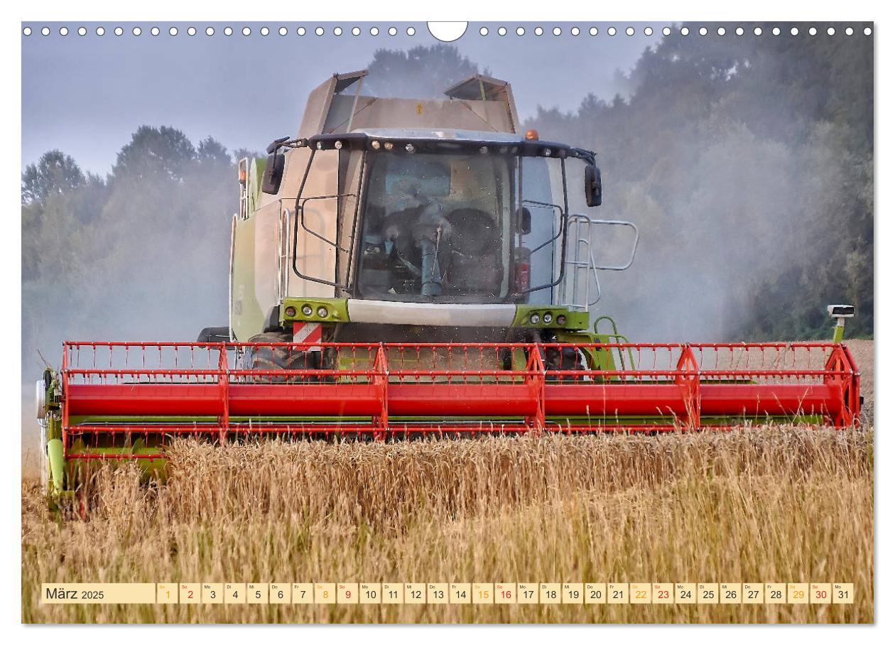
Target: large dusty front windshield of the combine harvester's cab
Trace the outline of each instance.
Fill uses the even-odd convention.
[[[510,280],[514,157],[371,155],[362,298],[501,301]]]

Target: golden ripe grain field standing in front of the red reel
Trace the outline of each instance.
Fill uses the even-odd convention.
[[[23,492],[28,622],[869,622],[873,431],[182,442],[87,522]],[[853,581],[851,606],[82,606],[41,581]]]

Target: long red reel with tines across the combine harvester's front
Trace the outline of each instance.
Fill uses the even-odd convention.
[[[254,344],[253,346],[270,346]],[[302,344],[277,344],[304,355]],[[841,344],[315,344],[354,369],[233,369],[240,344],[65,344],[64,446],[71,437],[143,433],[476,434],[484,432],[665,431],[698,428],[708,417],[822,414],[847,426],[857,420],[857,367]],[[552,369],[558,347],[584,356],[593,349],[624,358],[618,369],[575,364]],[[618,352],[616,352],[618,350]],[[98,353],[105,352],[101,359]],[[166,365],[173,352],[174,365]],[[524,369],[506,369],[510,356]],[[189,360],[183,359],[183,354]],[[568,355],[567,352],[564,355]],[[388,357],[392,356],[389,364]],[[545,360],[544,357],[547,357]],[[797,358],[801,356],[802,358]],[[627,357],[627,358],[626,358]],[[807,357],[807,361],[803,361]],[[170,358],[170,357],[169,357]],[[567,360],[567,359],[566,359]],[[631,362],[634,362],[634,365]],[[803,362],[799,362],[803,361]],[[545,369],[547,362],[551,369]],[[79,364],[80,363],[80,364]],[[799,369],[805,364],[806,369]],[[808,367],[810,365],[810,367]],[[106,367],[103,367],[106,366]],[[421,369],[427,368],[427,369]],[[131,381],[131,382],[129,382]],[[209,417],[208,425],[70,426],[87,417]],[[661,425],[624,418],[662,415]],[[234,423],[237,417],[305,417],[307,423]],[[361,423],[328,418],[353,417]],[[511,418],[459,423],[446,418]],[[571,426],[553,419],[578,417]],[[320,422],[313,422],[319,418]],[[418,418],[405,421],[401,418]],[[620,419],[620,421],[619,421]],[[611,420],[621,425],[603,425]],[[705,426],[728,429],[729,426]],[[100,458],[82,451],[83,458]]]

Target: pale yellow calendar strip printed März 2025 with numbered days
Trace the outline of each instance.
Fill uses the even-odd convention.
[[[852,582],[59,582],[45,605],[850,605]]]

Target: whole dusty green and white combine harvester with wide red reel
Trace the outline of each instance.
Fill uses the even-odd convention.
[[[239,162],[228,326],[196,343],[64,344],[38,381],[52,496],[96,460],[158,471],[173,437],[857,422],[840,343],[853,308],[831,309],[832,343],[629,343],[590,316],[601,272],[630,267],[638,237],[592,216],[594,153],[520,132],[507,82],[374,98],[365,75],[328,79],[297,137]],[[621,261],[601,264],[596,240]]]

